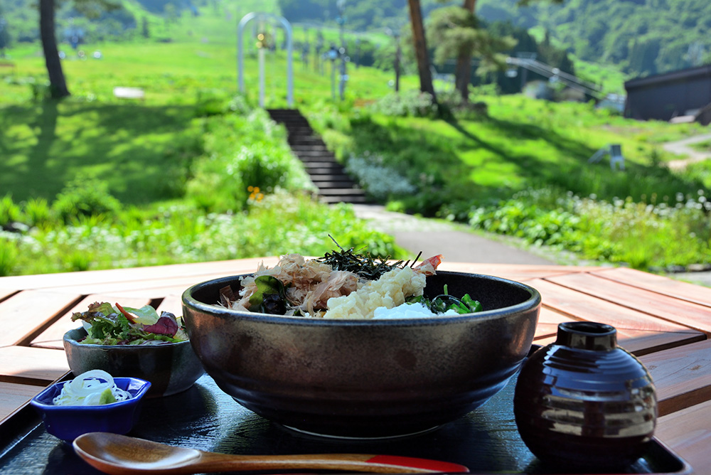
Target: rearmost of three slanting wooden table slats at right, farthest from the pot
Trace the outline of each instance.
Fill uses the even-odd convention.
[[[700,305],[711,306],[711,288],[709,287],[681,282],[661,275],[642,272],[641,270],[627,269],[626,267],[601,267],[599,269],[590,269],[589,272],[622,284],[640,287],[641,289],[688,300]]]

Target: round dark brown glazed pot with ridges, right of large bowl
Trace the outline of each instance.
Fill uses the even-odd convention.
[[[626,466],[650,442],[656,390],[644,365],[617,346],[613,326],[570,321],[526,361],[515,387],[521,439],[538,459]]]

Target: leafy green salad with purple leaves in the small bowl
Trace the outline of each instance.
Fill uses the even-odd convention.
[[[158,345],[188,340],[181,320],[168,311],[160,315],[150,305],[140,309],[94,302],[87,311],[75,312],[87,336],[79,343],[91,345]]]

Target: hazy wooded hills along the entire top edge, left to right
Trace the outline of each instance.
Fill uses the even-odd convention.
[[[525,28],[538,41],[547,32],[552,44],[577,60],[614,65],[628,77],[664,73],[711,60],[711,2],[707,0],[567,0],[563,4],[532,1],[521,7],[518,0],[479,0],[477,13],[488,23],[506,21]],[[443,5],[422,0],[425,15]],[[459,4],[459,2],[456,2]],[[60,41],[71,34],[90,41],[153,38],[175,40],[191,33],[191,16],[201,11],[280,12],[292,23],[319,23],[338,27],[340,18],[331,0],[123,0],[122,9],[102,13],[96,21],[82,18],[62,2],[57,14]],[[663,13],[663,14],[662,14]],[[0,0],[0,48],[36,41],[37,14],[31,0]],[[346,3],[346,30],[383,33],[385,28],[407,24],[407,2],[358,0]],[[1,23],[0,23],[1,25]]]

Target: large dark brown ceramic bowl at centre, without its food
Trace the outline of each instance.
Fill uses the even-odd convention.
[[[216,304],[240,277],[183,293],[198,358],[220,388],[257,414],[302,432],[392,437],[432,429],[498,393],[526,357],[540,294],[498,277],[437,272],[425,295],[469,293],[477,314],[341,320],[272,316]]]

